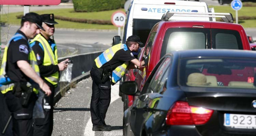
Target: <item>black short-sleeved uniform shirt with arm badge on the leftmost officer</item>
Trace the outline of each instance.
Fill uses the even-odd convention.
[[[26,35],[18,30],[17,33],[22,34],[24,37]],[[28,63],[28,54],[29,54],[29,45],[28,39],[16,39],[16,41],[11,41],[8,51],[7,51],[7,67],[6,73],[8,77],[15,82],[28,82],[29,78],[26,76],[18,67],[17,61],[25,60]]]

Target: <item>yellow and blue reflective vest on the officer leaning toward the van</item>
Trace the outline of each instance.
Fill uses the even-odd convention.
[[[125,51],[128,50],[126,44],[120,43],[120,44],[116,44],[116,45],[108,48],[104,52],[102,52],[102,54],[100,54],[100,56],[98,56],[96,59],[94,59],[96,66],[98,68],[101,68],[102,65],[104,65],[105,63],[110,61],[113,58],[113,56],[115,55],[115,53],[121,49],[123,49]],[[125,69],[127,68],[127,66],[128,66],[128,62],[123,63],[122,65],[118,66],[117,68],[115,68],[115,70],[112,71],[112,83],[113,84],[115,84],[119,80],[121,80],[121,78],[125,74]]]

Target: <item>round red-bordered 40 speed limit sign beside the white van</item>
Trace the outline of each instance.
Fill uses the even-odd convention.
[[[125,22],[125,12],[116,11],[111,16],[111,22],[116,27],[122,27]]]

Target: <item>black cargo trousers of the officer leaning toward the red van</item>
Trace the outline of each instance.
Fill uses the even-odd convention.
[[[92,68],[90,71],[92,77],[92,97],[90,112],[93,126],[106,125],[105,117],[110,105],[111,81],[101,82],[102,71]]]

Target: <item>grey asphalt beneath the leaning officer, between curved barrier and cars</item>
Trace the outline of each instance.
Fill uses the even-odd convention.
[[[86,78],[65,93],[54,109],[52,136],[121,136],[123,135],[123,102],[118,95],[119,84],[111,86],[111,103],[105,122],[112,131],[92,131],[90,98],[92,80]]]

